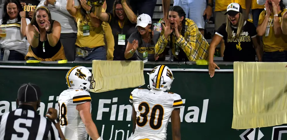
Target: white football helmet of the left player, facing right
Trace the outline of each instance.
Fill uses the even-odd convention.
[[[75,66],[66,74],[66,83],[69,89],[83,89],[90,91],[94,89],[95,80],[93,74],[88,68],[83,66]]]

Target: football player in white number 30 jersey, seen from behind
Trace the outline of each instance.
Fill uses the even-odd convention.
[[[180,95],[170,90],[172,71],[165,65],[155,67],[149,74],[147,89],[134,89],[130,95],[133,103],[133,135],[129,140],[165,140],[166,127],[171,118],[172,139],[180,140]]]

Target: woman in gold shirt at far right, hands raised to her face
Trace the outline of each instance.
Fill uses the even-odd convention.
[[[282,33],[282,15],[287,11],[281,0],[266,0],[259,16],[257,33],[263,36],[263,62],[286,62],[287,36]]]

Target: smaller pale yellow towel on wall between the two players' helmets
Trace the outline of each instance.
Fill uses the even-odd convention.
[[[92,74],[95,89],[90,91],[96,93],[145,84],[143,61],[93,60]]]

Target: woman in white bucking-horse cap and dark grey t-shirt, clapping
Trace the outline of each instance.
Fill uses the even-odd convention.
[[[129,59],[136,53],[138,60],[155,61],[155,45],[160,37],[160,32],[151,29],[151,17],[147,14],[141,14],[136,21],[138,31],[131,34],[128,39],[124,57]],[[163,55],[162,59],[165,60]]]

